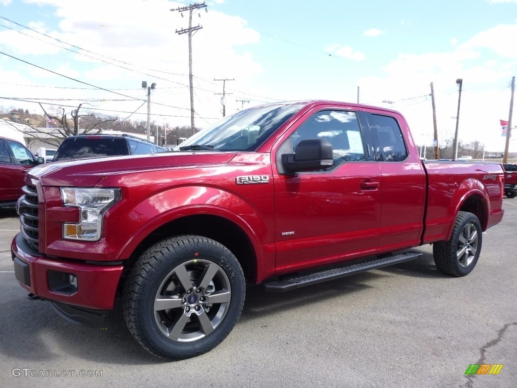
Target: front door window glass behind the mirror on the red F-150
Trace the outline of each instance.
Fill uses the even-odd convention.
[[[326,139],[332,144],[334,167],[348,161],[366,160],[355,112],[325,110],[312,115],[291,135],[293,152],[302,140]]]

